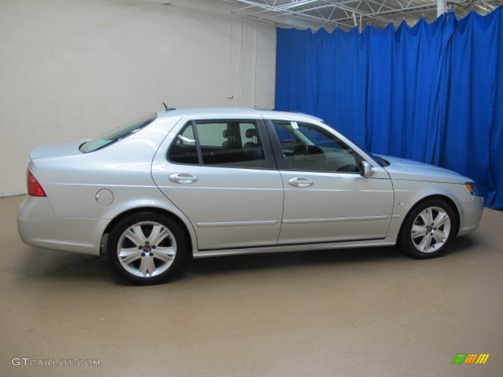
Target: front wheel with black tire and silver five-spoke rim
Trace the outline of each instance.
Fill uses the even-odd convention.
[[[449,246],[457,227],[458,220],[451,205],[442,199],[430,199],[409,212],[397,245],[412,258],[434,258]]]

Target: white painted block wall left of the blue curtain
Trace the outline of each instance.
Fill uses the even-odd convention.
[[[34,146],[94,137],[162,101],[274,107],[273,24],[259,22],[255,39],[256,20],[231,14],[229,91],[228,20],[237,4],[160,3],[0,0],[0,197],[26,193]]]

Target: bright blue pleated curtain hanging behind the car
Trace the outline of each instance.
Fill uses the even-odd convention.
[[[375,153],[444,166],[503,209],[503,8],[410,28],[277,29],[276,109]]]

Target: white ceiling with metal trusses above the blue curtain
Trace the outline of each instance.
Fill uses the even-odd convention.
[[[367,25],[384,28],[398,26],[403,20],[413,26],[424,17],[437,18],[436,0],[225,0],[242,5],[237,10],[245,15],[297,27],[360,29]],[[442,0],[441,0],[442,1]],[[503,0],[467,0],[445,2],[445,12],[463,18],[470,11],[486,15]]]

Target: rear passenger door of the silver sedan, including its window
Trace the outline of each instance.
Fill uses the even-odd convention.
[[[158,150],[153,179],[191,221],[199,250],[277,243],[283,181],[264,135],[257,116],[184,119]]]

